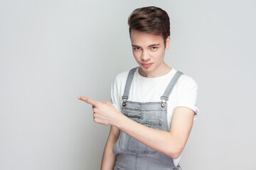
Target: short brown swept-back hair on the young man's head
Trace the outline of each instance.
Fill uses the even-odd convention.
[[[164,45],[170,35],[170,18],[166,11],[156,6],[135,9],[128,18],[129,34],[131,30],[139,30],[154,35],[162,35]]]

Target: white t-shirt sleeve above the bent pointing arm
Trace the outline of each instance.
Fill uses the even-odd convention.
[[[194,120],[196,120],[199,113],[199,110],[196,106],[198,85],[196,84],[196,81],[194,81],[191,77],[184,75],[184,77],[181,78],[179,80],[180,82],[177,84],[178,86],[174,108],[178,106],[190,108],[194,111]]]

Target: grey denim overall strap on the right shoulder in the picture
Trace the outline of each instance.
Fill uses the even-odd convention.
[[[161,96],[162,107],[166,105],[166,101],[168,101],[171,91],[174,89],[175,84],[177,83],[178,79],[181,77],[182,74],[183,74],[182,72],[177,71],[174,77],[171,79],[169,85],[166,87],[166,90],[164,91],[164,95]]]

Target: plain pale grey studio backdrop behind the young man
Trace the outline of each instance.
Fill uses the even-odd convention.
[[[165,61],[198,84],[183,170],[256,169],[256,1],[0,1],[0,169],[100,169],[109,126],[87,96],[110,101],[137,66],[127,18],[171,18]]]

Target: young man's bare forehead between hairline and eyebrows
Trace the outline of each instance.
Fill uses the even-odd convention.
[[[131,30],[132,45],[147,46],[151,44],[164,45],[164,38],[161,35],[145,33],[139,30]]]

